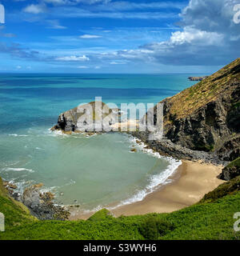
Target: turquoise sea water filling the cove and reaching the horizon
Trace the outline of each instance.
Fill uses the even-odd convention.
[[[126,134],[63,135],[50,127],[95,97],[155,104],[193,85],[193,75],[0,74],[0,176],[19,190],[42,182],[56,202],[82,210],[142,200],[180,162],[143,150]]]

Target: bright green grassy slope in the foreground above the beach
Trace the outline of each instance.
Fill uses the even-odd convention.
[[[114,218],[102,210],[88,221],[76,222],[36,221],[6,194],[1,194],[0,211],[6,215],[6,232],[0,232],[0,239],[144,239],[139,230],[150,217],[174,226],[160,239],[240,239],[240,232],[233,230],[233,215],[240,210],[239,188],[227,192],[236,182],[226,183],[223,198],[209,197],[170,214]]]

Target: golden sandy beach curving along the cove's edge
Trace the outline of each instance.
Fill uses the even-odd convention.
[[[221,171],[222,166],[182,161],[182,165],[169,178],[170,183],[159,186],[141,202],[119,206],[111,212],[118,217],[120,215],[170,213],[191,206],[223,183],[217,178]],[[94,213],[81,214],[77,210],[72,210],[70,219],[86,219],[92,214]]]

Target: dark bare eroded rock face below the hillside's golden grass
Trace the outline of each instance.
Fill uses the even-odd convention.
[[[232,94],[219,95],[186,118],[174,120],[165,127],[166,138],[191,150],[215,151],[222,159],[233,160],[231,154],[238,154],[240,147],[239,106],[232,103],[240,99],[239,87],[240,82],[232,86]]]

